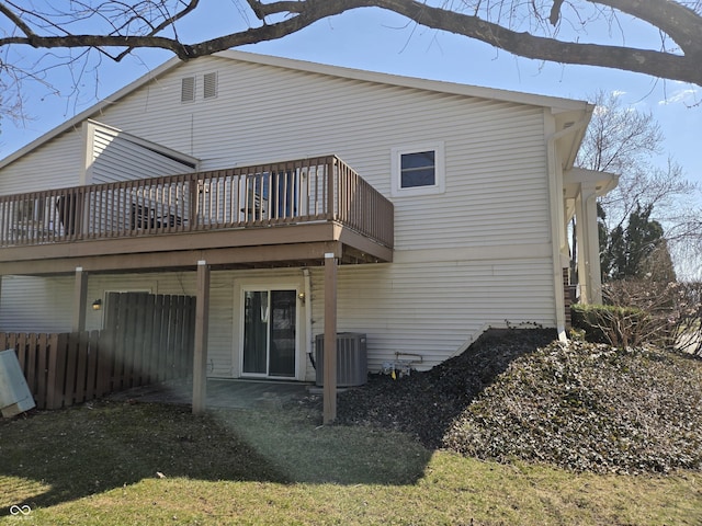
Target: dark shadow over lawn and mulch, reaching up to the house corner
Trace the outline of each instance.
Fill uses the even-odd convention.
[[[514,358],[552,339],[552,331],[488,331],[430,371],[397,381],[376,378],[339,397],[339,422],[352,425],[319,425],[314,400],[204,415],[173,403],[104,401],[0,421],[0,490],[8,481],[33,488],[0,491],[0,516],[10,506],[52,506],[159,473],[205,481],[414,484],[453,419]]]

